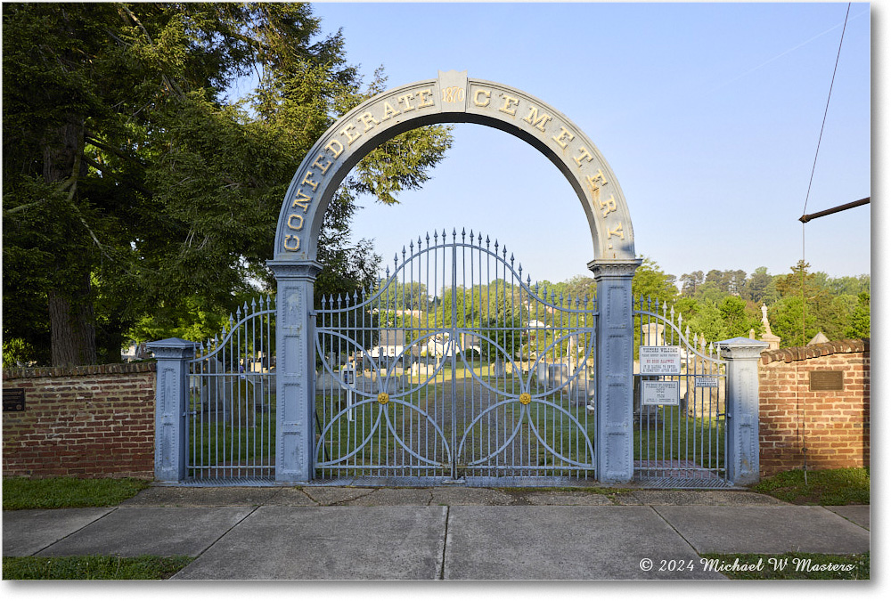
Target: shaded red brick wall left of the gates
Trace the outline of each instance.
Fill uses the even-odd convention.
[[[3,475],[153,477],[155,366],[5,370],[25,410],[4,411]]]

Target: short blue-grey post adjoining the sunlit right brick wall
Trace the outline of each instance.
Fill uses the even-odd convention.
[[[731,338],[717,343],[727,361],[727,480],[756,483],[758,467],[758,360],[769,345],[760,340]]]

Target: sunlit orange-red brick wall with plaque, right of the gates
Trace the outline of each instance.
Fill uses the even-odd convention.
[[[842,371],[840,391],[812,391],[810,372]],[[870,465],[870,341],[761,353],[761,475]]]

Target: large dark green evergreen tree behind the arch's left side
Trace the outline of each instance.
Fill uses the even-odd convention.
[[[3,19],[4,311],[19,318],[4,341],[46,363],[118,361],[137,321],[167,331],[183,306],[227,313],[268,287],[295,160],[385,81],[362,91],[308,4],[5,4]],[[255,72],[256,93],[226,97]],[[370,243],[347,243],[354,196],[420,186],[449,132],[356,166],[325,215],[320,291],[372,282]]]

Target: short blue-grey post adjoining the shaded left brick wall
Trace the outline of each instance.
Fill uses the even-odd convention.
[[[185,480],[186,414],[189,406],[189,365],[197,343],[165,338],[145,345],[158,361],[155,391],[155,479],[178,483]]]

